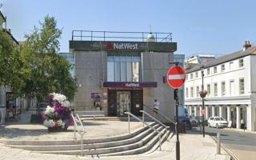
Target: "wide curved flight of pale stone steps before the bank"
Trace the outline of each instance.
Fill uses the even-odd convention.
[[[161,150],[161,145],[172,132],[161,122],[144,122],[133,114],[127,113],[131,117],[141,121],[145,126],[134,130],[130,134],[124,134],[109,138],[80,138],[74,140],[1,140],[3,144],[9,147],[22,150],[31,150],[43,154],[74,154],[74,155],[92,155],[92,156],[114,156],[142,154],[148,151]],[[77,114],[78,116],[78,114]],[[79,117],[78,117],[79,118]],[[80,122],[81,120],[78,119]],[[75,121],[78,121],[75,118]],[[82,124],[82,123],[81,123]],[[78,133],[82,133],[82,128],[77,125]],[[82,134],[81,134],[82,135]],[[86,134],[85,136],[86,137]]]

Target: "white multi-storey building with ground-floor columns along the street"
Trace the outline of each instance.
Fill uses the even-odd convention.
[[[201,115],[202,70],[206,118],[221,116],[240,128],[241,119],[247,130],[255,130],[256,114],[256,46],[245,42],[244,49],[216,58],[186,70],[185,106],[190,115]]]

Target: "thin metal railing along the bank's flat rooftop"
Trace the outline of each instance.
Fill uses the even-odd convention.
[[[72,41],[130,41],[147,42],[147,35],[153,34],[155,42],[172,42],[172,33],[163,32],[114,32],[93,30],[72,30]]]

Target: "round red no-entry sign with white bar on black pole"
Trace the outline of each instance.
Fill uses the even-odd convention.
[[[173,88],[179,88],[183,86],[186,75],[185,70],[181,66],[173,66],[167,72],[167,82]]]

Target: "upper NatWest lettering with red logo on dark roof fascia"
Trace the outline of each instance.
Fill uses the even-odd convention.
[[[138,50],[137,42],[108,42],[106,44],[108,50]]]

